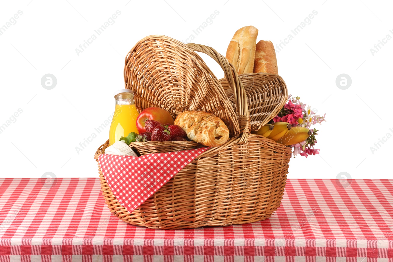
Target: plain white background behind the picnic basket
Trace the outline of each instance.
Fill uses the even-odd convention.
[[[91,136],[114,111],[112,93],[122,89],[124,58],[141,38],[162,34],[212,46],[220,53],[237,29],[253,25],[258,40],[279,44],[279,75],[289,93],[325,114],[317,136],[320,155],[291,159],[288,178],[391,178],[389,138],[374,152],[370,147],[387,133],[391,120],[393,39],[392,3],[371,0],[318,1],[43,1],[2,2],[0,26],[22,15],[0,35],[0,125],[23,112],[0,134],[2,177],[97,177],[93,159],[108,138],[109,126],[79,154],[75,147]],[[82,53],[75,49],[95,34],[116,10],[121,15]],[[196,29],[214,11],[211,24]],[[318,12],[300,33],[299,26]],[[211,21],[208,21],[211,22]],[[97,35],[97,34],[96,34]],[[212,59],[202,56],[218,78]],[[57,78],[52,90],[41,86],[43,75]],[[346,73],[351,86],[341,90],[336,77]],[[389,130],[392,128],[392,130]],[[386,139],[385,139],[386,140]]]

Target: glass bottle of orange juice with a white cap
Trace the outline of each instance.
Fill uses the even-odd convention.
[[[129,133],[139,134],[136,118],[139,113],[134,104],[134,93],[129,89],[121,89],[114,93],[116,100],[115,113],[109,128],[109,145],[119,141],[120,137]]]

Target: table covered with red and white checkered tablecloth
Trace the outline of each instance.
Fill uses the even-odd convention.
[[[268,220],[184,230],[121,222],[98,178],[0,184],[1,262],[393,261],[393,180],[289,179]]]

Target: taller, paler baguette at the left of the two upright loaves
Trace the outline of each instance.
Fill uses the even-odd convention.
[[[233,64],[238,74],[253,72],[257,35],[257,28],[245,26],[236,31],[229,43],[225,57]]]

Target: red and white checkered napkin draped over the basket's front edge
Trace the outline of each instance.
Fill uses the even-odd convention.
[[[101,154],[98,163],[114,196],[131,213],[208,148],[140,157]]]

